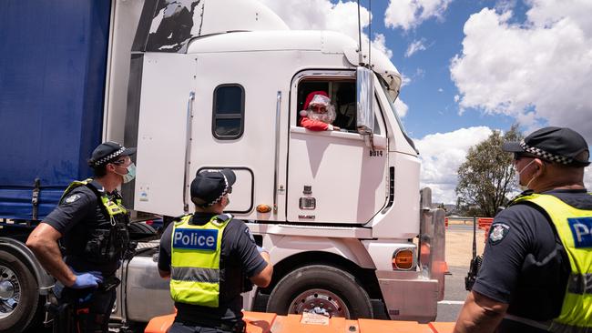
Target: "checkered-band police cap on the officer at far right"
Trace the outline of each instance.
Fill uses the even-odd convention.
[[[531,154],[565,166],[590,164],[587,160],[577,159],[582,152],[588,151],[586,139],[567,127],[544,127],[520,142],[506,142],[502,148],[507,152]]]

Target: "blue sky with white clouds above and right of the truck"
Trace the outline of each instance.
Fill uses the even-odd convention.
[[[357,39],[355,1],[260,1],[291,29]],[[367,41],[370,2],[361,5]],[[569,126],[592,143],[589,13],[590,0],[372,1],[373,46],[403,75],[395,106],[435,202],[455,202],[456,169],[493,130]]]

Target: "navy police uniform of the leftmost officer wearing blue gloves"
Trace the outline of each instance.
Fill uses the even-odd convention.
[[[114,226],[112,226],[98,197],[99,194],[104,194],[104,189],[97,182],[76,187],[44,220],[44,223],[64,235],[60,239],[60,247],[66,265],[76,272],[100,271],[106,282],[99,288],[85,289],[64,288],[59,282],[56,282],[55,291],[58,305],[71,303],[75,306],[74,310],[77,312],[82,331],[94,331],[96,328],[107,331],[108,318],[115,302],[116,290],[115,288],[105,290],[104,287],[107,286],[107,282],[117,284],[115,272],[119,267],[123,251],[128,247],[126,227],[128,215],[122,215],[121,218],[124,220],[120,221],[114,230]],[[112,201],[120,199],[117,190],[105,195]],[[115,251],[110,256],[104,257],[105,251],[103,254],[97,253],[97,251],[100,252],[100,249],[91,247],[96,244],[97,236],[107,236],[112,230],[117,235],[112,236],[111,239],[117,237],[120,248],[114,248]],[[93,238],[95,239],[93,240]]]

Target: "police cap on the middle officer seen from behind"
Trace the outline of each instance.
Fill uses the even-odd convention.
[[[191,182],[191,201],[200,207],[212,206],[230,193],[236,180],[236,175],[229,168],[201,170]]]

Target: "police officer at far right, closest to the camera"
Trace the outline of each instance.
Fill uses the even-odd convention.
[[[504,150],[526,191],[495,217],[454,332],[592,332],[587,142],[545,127]]]

